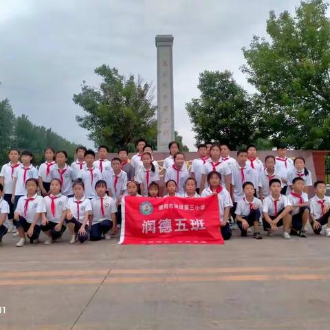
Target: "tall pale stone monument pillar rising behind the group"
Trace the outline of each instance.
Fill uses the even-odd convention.
[[[173,36],[155,37],[157,47],[157,151],[168,151],[174,140]]]

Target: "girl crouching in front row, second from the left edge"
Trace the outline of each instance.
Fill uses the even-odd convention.
[[[26,195],[19,198],[17,208],[15,208],[14,212],[14,225],[20,237],[19,241],[16,243],[18,248],[21,248],[26,243],[25,232],[31,244],[34,243],[34,241],[39,241],[41,217],[42,213],[46,212],[43,197],[36,193],[38,190],[38,179],[27,179],[25,188]]]

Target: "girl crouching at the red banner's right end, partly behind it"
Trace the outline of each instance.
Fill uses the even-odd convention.
[[[228,190],[223,189],[221,186],[221,174],[214,170],[208,173],[208,188],[203,190],[201,197],[210,195],[217,195],[218,197],[221,235],[226,241],[232,236],[232,230],[230,229],[229,224],[232,199],[230,198]]]

